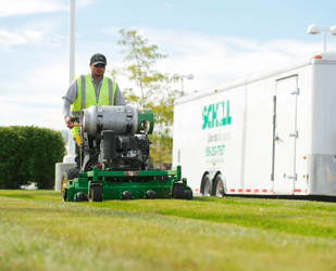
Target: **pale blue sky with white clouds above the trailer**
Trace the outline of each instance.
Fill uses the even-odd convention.
[[[0,3],[0,126],[66,129],[69,0]],[[323,35],[307,28],[336,25],[335,10],[336,1],[323,0],[76,0],[75,74],[89,73],[97,52],[108,70],[121,67],[119,30],[137,30],[169,55],[154,69],[194,75],[184,80],[192,93],[322,51]],[[335,39],[327,34],[327,50]]]

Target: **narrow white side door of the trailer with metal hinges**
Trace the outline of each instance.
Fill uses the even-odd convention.
[[[294,194],[296,181],[296,140],[298,76],[275,82],[273,138],[273,193]]]

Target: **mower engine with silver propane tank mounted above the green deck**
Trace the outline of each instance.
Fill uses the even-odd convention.
[[[80,117],[82,171],[148,169],[148,134],[153,130],[152,109],[126,106],[90,106]]]

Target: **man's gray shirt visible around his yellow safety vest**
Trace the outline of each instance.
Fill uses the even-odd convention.
[[[96,91],[96,101],[98,102],[99,100],[99,93],[100,93],[100,87],[101,87],[101,82],[102,79],[95,79],[92,78],[92,76],[90,75],[94,87],[95,87],[95,91]],[[64,96],[62,96],[63,99],[63,116],[64,119],[67,118],[70,116],[70,106],[71,104],[73,104],[77,98],[77,80],[73,80],[72,83],[70,85],[66,94]],[[122,95],[122,92],[116,83],[116,90],[114,93],[114,105],[125,105],[126,102]]]

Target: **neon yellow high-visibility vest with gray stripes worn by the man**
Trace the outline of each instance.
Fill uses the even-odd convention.
[[[77,79],[77,98],[71,105],[71,114],[73,116],[80,116],[82,109],[88,108],[92,105],[114,105],[114,94],[116,83],[108,77],[103,77],[98,103],[96,100],[96,91],[90,75],[82,75]],[[71,129],[71,134],[74,139],[78,136],[79,128]]]

